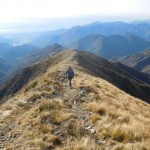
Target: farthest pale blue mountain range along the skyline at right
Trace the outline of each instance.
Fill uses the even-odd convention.
[[[150,40],[150,24],[148,23],[124,23],[124,22],[94,22],[85,26],[75,26],[70,29],[56,30],[41,34],[33,41],[38,46],[47,46],[53,43],[68,45],[90,34],[105,36],[119,34],[135,34]]]

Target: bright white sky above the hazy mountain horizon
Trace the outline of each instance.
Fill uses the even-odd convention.
[[[0,30],[47,21],[58,28],[92,21],[145,20],[150,19],[149,8],[150,0],[0,0]]]

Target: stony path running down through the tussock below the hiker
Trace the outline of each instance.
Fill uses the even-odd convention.
[[[77,120],[82,124],[85,130],[85,134],[90,135],[92,139],[95,140],[95,143],[99,145],[100,149],[109,150],[109,145],[106,140],[98,138],[96,127],[89,121],[89,116],[92,112],[85,110],[83,108],[83,103],[81,98],[84,97],[85,100],[88,100],[88,96],[81,95],[81,90],[78,87],[73,87],[69,89],[67,86],[63,89],[61,99],[64,100],[65,106],[70,109],[70,112],[76,115]],[[65,144],[66,136],[66,127],[69,121],[66,120],[59,127],[54,130],[54,134],[58,135],[62,140],[62,143]]]

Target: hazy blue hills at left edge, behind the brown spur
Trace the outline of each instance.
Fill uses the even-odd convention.
[[[12,46],[0,44],[0,82],[11,74],[11,69],[26,56],[35,53],[39,48],[31,45]]]

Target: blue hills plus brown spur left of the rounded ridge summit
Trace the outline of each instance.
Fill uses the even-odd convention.
[[[58,44],[50,45],[44,49],[27,44],[16,47],[9,44],[2,44],[2,46],[0,49],[2,52],[0,58],[0,83],[16,74],[22,68],[42,61],[53,53],[64,50]]]

